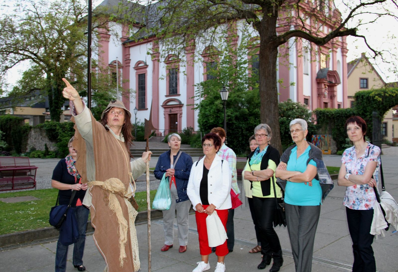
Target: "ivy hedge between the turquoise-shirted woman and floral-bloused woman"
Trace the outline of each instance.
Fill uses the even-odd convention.
[[[337,150],[343,149],[347,138],[345,121],[355,115],[354,109],[315,109],[314,114],[318,130],[322,134],[331,134],[336,141]]]

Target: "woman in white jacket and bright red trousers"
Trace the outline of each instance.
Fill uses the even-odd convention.
[[[192,272],[210,269],[211,247],[209,247],[207,235],[207,216],[217,210],[217,215],[226,229],[228,209],[232,207],[230,196],[232,175],[228,162],[223,163],[224,161],[217,155],[217,151],[221,147],[220,137],[215,133],[206,134],[202,138],[202,147],[205,156],[193,163],[187,187],[189,200],[196,211],[195,218],[202,258]],[[226,240],[222,245],[216,247],[217,267],[215,272],[225,271],[224,258],[228,252]]]

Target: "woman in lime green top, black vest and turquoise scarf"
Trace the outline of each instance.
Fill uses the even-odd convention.
[[[273,265],[269,271],[277,272],[283,264],[281,244],[273,229],[275,206],[277,202],[281,202],[282,197],[281,189],[275,183],[275,169],[279,164],[280,156],[278,150],[269,145],[272,132],[267,124],[256,126],[254,136],[258,148],[249,155],[249,163],[244,169],[244,178],[252,183],[254,212],[261,233],[263,260],[257,268],[264,269],[265,266],[271,264],[271,258],[273,258]]]

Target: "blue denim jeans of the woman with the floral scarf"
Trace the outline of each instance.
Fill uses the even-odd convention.
[[[86,227],[88,213],[90,210],[86,206],[78,206],[75,209],[76,221],[78,224],[79,236],[73,246],[73,265],[83,264],[84,242],[86,241]],[[57,253],[55,253],[55,272],[65,272],[66,258],[68,256],[68,246],[57,243]]]

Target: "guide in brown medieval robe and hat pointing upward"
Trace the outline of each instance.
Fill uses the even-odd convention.
[[[135,182],[146,171],[150,151],[130,162],[131,113],[120,100],[112,100],[97,122],[80,95],[66,79],[62,95],[71,101],[78,151],[76,168],[89,185],[83,204],[90,207],[94,243],[103,256],[105,272],[140,269],[135,218]],[[133,206],[135,206],[133,208]]]

